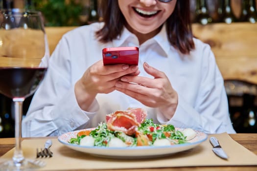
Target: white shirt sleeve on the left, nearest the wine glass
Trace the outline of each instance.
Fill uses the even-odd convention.
[[[99,109],[95,100],[89,111],[77,104],[70,82],[69,44],[62,38],[49,60],[47,74],[33,96],[22,121],[22,136],[57,136],[83,128]]]

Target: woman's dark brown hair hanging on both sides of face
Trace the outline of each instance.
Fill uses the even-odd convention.
[[[99,41],[107,43],[116,39],[126,22],[117,0],[101,0],[99,13],[104,22],[103,28],[96,32]],[[166,21],[166,30],[169,43],[181,53],[188,54],[194,49],[189,0],[177,0],[173,13]]]

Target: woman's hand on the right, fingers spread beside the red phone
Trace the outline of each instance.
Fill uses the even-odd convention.
[[[140,101],[145,106],[159,108],[166,119],[171,119],[178,105],[177,92],[172,88],[164,72],[147,63],[144,63],[143,67],[154,79],[126,75],[121,78],[121,81],[117,81],[116,89]]]

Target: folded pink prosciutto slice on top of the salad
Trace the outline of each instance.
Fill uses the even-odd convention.
[[[133,135],[146,116],[146,111],[141,108],[118,110],[106,115],[107,128],[124,132],[127,135]]]

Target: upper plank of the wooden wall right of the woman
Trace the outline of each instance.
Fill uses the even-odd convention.
[[[257,57],[257,24],[193,24],[194,35],[209,43],[217,57]]]

